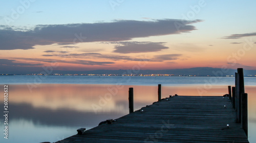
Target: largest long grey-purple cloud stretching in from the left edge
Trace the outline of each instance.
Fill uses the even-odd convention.
[[[182,27],[177,29],[175,23]],[[118,20],[114,22],[37,25],[34,30],[0,30],[0,50],[32,49],[35,45],[114,42],[133,38],[181,34],[196,30],[190,24],[201,20],[163,19],[155,21]]]

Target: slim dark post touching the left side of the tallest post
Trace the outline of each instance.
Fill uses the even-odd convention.
[[[241,123],[241,120],[240,120],[240,118],[241,118],[241,112],[240,112],[240,109],[241,109],[241,103],[240,103],[240,96],[239,96],[239,74],[238,73],[235,73],[235,78],[236,78],[236,80],[235,80],[235,85],[236,85],[236,87],[235,87],[235,94],[234,94],[234,96],[235,96],[235,110],[236,110],[236,122],[237,123]]]

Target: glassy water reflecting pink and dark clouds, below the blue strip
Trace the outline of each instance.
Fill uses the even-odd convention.
[[[3,87],[3,86],[2,86]],[[128,90],[134,88],[135,110],[157,101],[157,85],[89,85],[40,84],[32,92],[27,85],[9,85],[9,130],[5,142],[57,141],[76,133],[76,129],[95,127],[106,119],[129,113]],[[169,95],[199,95],[203,85],[167,87],[162,84],[162,98]],[[118,90],[116,90],[118,89]],[[256,88],[246,86],[248,93],[249,141],[256,126]],[[203,96],[222,96],[227,86],[213,86]],[[3,91],[1,91],[3,95]],[[3,98],[0,98],[3,107]],[[4,128],[3,124],[0,125]],[[24,132],[24,131],[28,132]],[[39,134],[38,134],[39,133]],[[29,135],[29,137],[28,137]],[[17,141],[17,138],[19,141]]]

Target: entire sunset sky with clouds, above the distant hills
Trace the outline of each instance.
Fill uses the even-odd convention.
[[[256,1],[0,1],[0,74],[256,70]]]

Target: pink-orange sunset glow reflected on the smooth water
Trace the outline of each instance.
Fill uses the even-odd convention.
[[[73,109],[76,111],[127,113],[127,96],[131,85],[89,85],[89,84],[41,84],[32,92],[26,85],[10,85],[12,104],[27,103],[35,108]],[[135,106],[151,104],[157,100],[157,86],[133,85]],[[198,87],[164,87],[162,97],[169,95],[199,95]],[[249,88],[251,89],[251,88]],[[227,92],[225,86],[214,86],[203,96],[221,96]],[[3,99],[1,99],[3,100]]]

